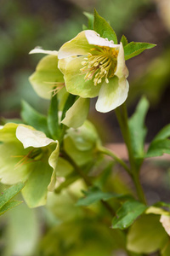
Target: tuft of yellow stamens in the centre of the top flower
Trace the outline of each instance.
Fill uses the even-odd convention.
[[[117,65],[118,49],[96,46],[90,49],[91,53],[82,61],[81,72],[86,73],[84,79],[94,79],[94,85],[101,83],[102,79],[109,83],[109,78],[114,76]]]

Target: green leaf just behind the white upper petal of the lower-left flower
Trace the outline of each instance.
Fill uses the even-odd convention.
[[[43,131],[49,137],[47,118],[38,113],[27,102],[22,101],[21,117],[27,125],[33,126],[38,131]]]

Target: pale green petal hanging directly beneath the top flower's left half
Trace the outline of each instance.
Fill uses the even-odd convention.
[[[78,98],[72,107],[67,110],[65,119],[61,123],[72,128],[80,127],[88,117],[89,105],[89,99]]]

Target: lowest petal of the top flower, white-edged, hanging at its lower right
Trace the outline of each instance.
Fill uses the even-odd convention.
[[[128,87],[126,79],[118,79],[116,76],[109,79],[109,84],[104,82],[99,91],[96,110],[106,113],[122,105],[127,99]]]

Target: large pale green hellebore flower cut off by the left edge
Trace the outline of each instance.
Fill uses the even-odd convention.
[[[54,189],[59,143],[28,125],[8,123],[0,127],[1,183],[26,182],[22,195],[29,207],[46,203]]]

